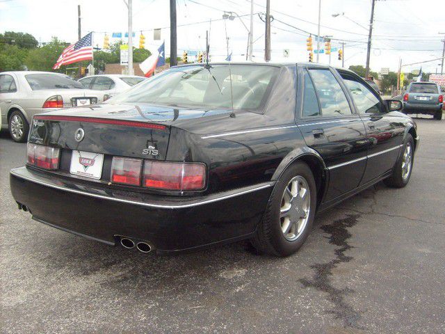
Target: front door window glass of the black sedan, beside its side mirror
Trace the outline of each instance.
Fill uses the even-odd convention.
[[[369,88],[364,86],[364,84],[347,74],[341,74],[341,77],[345,81],[346,87],[350,90],[351,95],[353,95],[353,100],[357,106],[358,113],[385,112],[385,108],[383,107],[382,102],[380,102],[380,99],[378,99]]]

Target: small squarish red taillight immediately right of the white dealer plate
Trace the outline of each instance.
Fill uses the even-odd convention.
[[[140,186],[142,159],[113,157],[111,163],[111,182]]]

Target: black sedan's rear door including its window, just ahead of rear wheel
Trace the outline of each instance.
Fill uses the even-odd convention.
[[[299,67],[303,89],[298,127],[329,170],[324,201],[353,191],[366,168],[366,131],[351,108],[338,74],[329,67]]]

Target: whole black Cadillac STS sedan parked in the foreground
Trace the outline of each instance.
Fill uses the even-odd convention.
[[[400,101],[314,63],[172,67],[104,104],[34,116],[19,209],[143,252],[250,239],[290,255],[316,212],[410,180],[419,136]]]

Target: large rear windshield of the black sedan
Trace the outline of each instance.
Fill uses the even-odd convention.
[[[279,70],[268,65],[173,67],[107,102],[259,111]]]

